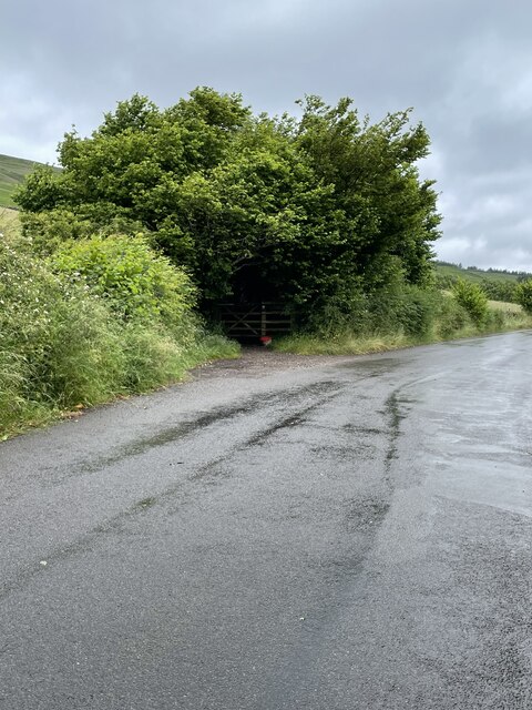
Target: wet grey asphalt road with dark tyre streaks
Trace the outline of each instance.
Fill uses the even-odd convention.
[[[0,445],[1,710],[532,708],[532,333],[266,358]]]

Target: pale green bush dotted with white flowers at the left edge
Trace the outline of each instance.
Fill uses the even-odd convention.
[[[120,324],[104,304],[4,242],[0,276],[2,426],[121,390]]]

